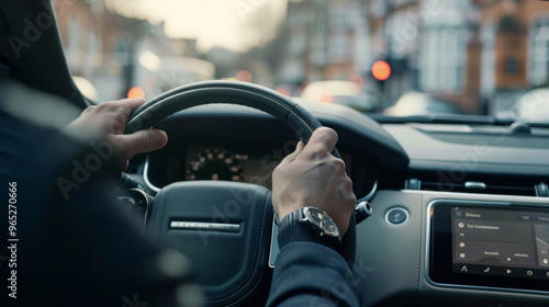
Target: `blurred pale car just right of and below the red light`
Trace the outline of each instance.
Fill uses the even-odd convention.
[[[429,94],[421,92],[407,92],[393,106],[383,111],[384,115],[391,116],[461,113],[453,104],[433,99]]]

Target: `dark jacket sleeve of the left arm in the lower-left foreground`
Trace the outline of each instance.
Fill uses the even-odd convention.
[[[0,263],[2,281],[16,278],[16,299],[3,292],[0,306],[186,306],[176,302],[180,289],[201,297],[190,270],[175,275],[160,265],[187,263],[183,255],[149,239],[113,197],[120,161],[103,140],[25,122],[1,101],[0,139],[3,197],[9,183],[16,185],[10,234],[16,266]],[[9,254],[1,248],[0,255]]]

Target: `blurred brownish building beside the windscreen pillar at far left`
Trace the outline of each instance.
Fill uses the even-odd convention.
[[[91,81],[100,101],[124,96],[133,83],[133,50],[144,21],[115,14],[103,1],[53,4],[71,73]]]

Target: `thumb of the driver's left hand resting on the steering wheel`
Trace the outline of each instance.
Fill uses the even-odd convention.
[[[139,152],[163,148],[168,143],[168,135],[163,130],[145,129],[131,135],[111,135],[111,141],[124,159],[132,159]]]

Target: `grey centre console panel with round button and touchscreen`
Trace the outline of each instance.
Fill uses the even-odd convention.
[[[549,198],[382,190],[370,205],[362,306],[549,306]]]

